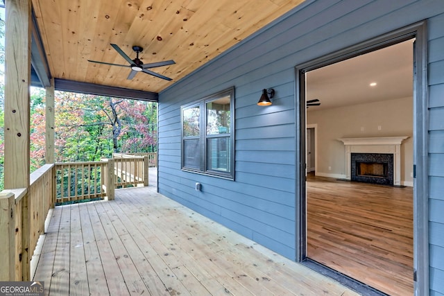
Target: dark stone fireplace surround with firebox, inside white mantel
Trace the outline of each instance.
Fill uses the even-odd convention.
[[[393,186],[393,154],[351,153],[351,180]]]

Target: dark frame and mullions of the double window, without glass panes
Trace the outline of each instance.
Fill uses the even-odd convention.
[[[216,101],[224,96],[230,97],[230,125],[229,132],[226,134],[207,134],[207,103]],[[199,107],[199,136],[184,136],[184,111],[192,108]],[[229,135],[228,135],[229,134]],[[228,166],[230,169],[228,172],[218,171],[208,168],[208,140],[209,139],[220,139],[229,138],[229,161]],[[189,139],[199,139],[199,168],[194,168],[190,166],[185,166],[185,141]],[[221,177],[228,180],[234,180],[234,87],[224,89],[221,92],[211,94],[210,96],[205,96],[197,101],[193,101],[186,105],[180,106],[180,167],[182,171],[187,171],[190,173],[198,173],[202,175],[210,175],[213,177]]]

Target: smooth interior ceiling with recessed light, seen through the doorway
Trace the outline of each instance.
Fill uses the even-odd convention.
[[[413,40],[307,72],[307,112],[413,96]],[[371,82],[376,82],[374,87]]]

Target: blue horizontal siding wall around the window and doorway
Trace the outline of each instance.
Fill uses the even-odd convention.
[[[306,1],[160,94],[159,191],[290,259],[296,254],[296,76],[322,55],[429,19],[430,288],[444,295],[444,5]],[[180,105],[235,87],[236,179],[180,170]],[[270,107],[256,105],[273,87]],[[200,182],[202,191],[195,191]]]

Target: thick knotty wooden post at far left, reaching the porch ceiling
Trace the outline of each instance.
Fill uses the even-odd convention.
[[[5,189],[29,188],[31,0],[6,0]],[[22,200],[22,280],[30,274],[28,199]],[[2,261],[3,262],[3,261]]]

